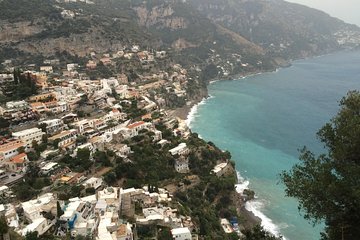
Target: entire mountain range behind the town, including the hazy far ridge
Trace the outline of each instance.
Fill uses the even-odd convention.
[[[360,42],[359,28],[282,0],[2,0],[0,60],[167,49],[204,77],[272,70]],[[216,68],[215,68],[216,66]]]

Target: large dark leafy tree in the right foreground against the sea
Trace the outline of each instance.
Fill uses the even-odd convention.
[[[339,113],[317,133],[327,154],[304,147],[301,162],[281,179],[305,219],[325,221],[323,239],[360,239],[360,93],[340,101]]]

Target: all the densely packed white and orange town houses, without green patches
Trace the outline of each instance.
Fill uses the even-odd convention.
[[[191,239],[191,218],[179,214],[167,190],[110,187],[101,173],[90,169],[77,172],[60,162],[65,155],[76,158],[82,149],[89,150],[90,161],[95,161],[98,151],[111,150],[131,162],[129,141],[136,137],[147,134],[160,148],[171,143],[156,129],[161,123],[171,130],[172,137],[182,139],[168,151],[175,159],[174,169],[189,172],[190,149],[185,141],[190,131],[163,110],[169,94],[186,97],[187,71],[175,64],[154,72],[157,60],[166,57],[165,51],[141,50],[135,45],[113,54],[92,53],[85,66],[48,59],[38,70],[31,66],[23,73],[34,81],[38,93],[0,107],[0,118],[9,125],[1,129],[0,197],[5,200],[0,213],[10,227],[23,236],[34,231],[42,235],[56,227],[58,236],[70,232],[72,236],[125,240],[134,237],[133,223],[138,227],[159,224],[172,229],[174,239]],[[96,71],[99,65],[111,67],[117,59],[140,63],[143,71],[136,81],[127,73],[90,80],[88,71]],[[13,74],[0,74],[0,82],[12,81]],[[12,186],[23,181],[33,165],[52,186],[83,186],[94,189],[95,194],[63,201],[51,188],[44,188],[36,199],[12,201],[16,197]],[[129,218],[134,222],[127,222]]]

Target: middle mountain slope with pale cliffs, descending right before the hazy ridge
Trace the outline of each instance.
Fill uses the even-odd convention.
[[[271,69],[274,63],[265,56],[262,47],[217,23],[209,21],[183,1],[149,1],[133,7],[138,23],[171,46],[183,58],[182,63],[219,63],[236,55],[257,68],[254,59]],[[215,61],[212,56],[218,55]]]

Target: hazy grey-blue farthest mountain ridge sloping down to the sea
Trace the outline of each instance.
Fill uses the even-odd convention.
[[[273,57],[294,59],[324,54],[360,40],[360,29],[355,25],[282,0],[189,2],[213,22],[262,46]]]

